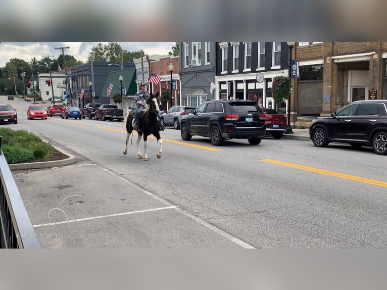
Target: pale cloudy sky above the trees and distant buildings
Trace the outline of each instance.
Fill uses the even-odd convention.
[[[108,42],[100,41],[103,44]],[[18,58],[30,62],[32,58],[37,60],[43,57],[58,59],[62,54],[59,47],[69,47],[66,55],[72,55],[77,61],[87,62],[87,56],[93,46],[99,42],[1,42],[0,43],[0,68],[5,67],[10,59]],[[148,55],[168,55],[172,51],[175,42],[117,42],[123,50],[135,52],[143,50]]]

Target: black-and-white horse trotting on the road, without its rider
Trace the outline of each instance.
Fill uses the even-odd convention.
[[[157,153],[157,158],[161,158],[161,148],[163,144],[163,140],[160,137],[159,132],[159,120],[157,114],[160,112],[159,104],[157,102],[157,97],[159,96],[159,92],[156,94],[153,94],[151,92],[151,96],[149,100],[147,101],[147,105],[145,106],[146,109],[144,109],[141,112],[141,115],[139,117],[139,126],[140,128],[137,128],[137,155],[139,159],[144,158],[144,161],[148,161],[148,155],[147,155],[147,139],[149,135],[154,135],[157,139],[157,142],[160,144],[159,152]],[[124,132],[126,132],[126,143],[125,143],[125,149],[123,151],[123,154],[126,155],[128,152],[128,141],[130,134],[133,132],[133,119],[134,119],[134,111],[128,111],[125,115],[124,119]],[[142,156],[140,151],[140,141],[141,137],[143,136],[144,140],[144,156]],[[132,137],[133,138],[133,137]]]

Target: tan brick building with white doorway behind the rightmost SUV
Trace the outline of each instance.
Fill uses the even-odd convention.
[[[292,125],[308,126],[350,102],[386,99],[387,42],[296,42],[292,59]]]

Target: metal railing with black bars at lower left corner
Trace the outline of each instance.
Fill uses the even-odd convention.
[[[40,249],[40,243],[2,150],[0,136],[0,249]]]

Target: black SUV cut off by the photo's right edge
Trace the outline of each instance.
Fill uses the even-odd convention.
[[[349,143],[355,148],[372,146],[387,154],[387,100],[356,101],[310,123],[309,136],[317,147],[329,142]]]

